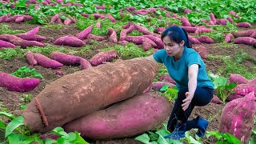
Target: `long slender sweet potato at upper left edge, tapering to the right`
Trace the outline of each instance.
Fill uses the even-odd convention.
[[[44,46],[41,42],[27,41],[12,34],[1,34],[0,40],[10,42],[15,46],[21,46],[22,48],[26,48],[26,46]]]

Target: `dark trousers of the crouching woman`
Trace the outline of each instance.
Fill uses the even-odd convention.
[[[182,88],[178,91],[178,98],[175,99],[174,109],[170,114],[170,118],[168,121],[167,129],[172,132],[175,128],[175,125],[178,120],[182,122],[187,122],[187,119],[190,117],[194,106],[206,106],[211,99],[213,98],[214,90],[206,87],[197,87],[194,92],[194,98],[190,102],[190,106],[184,111],[182,110],[182,100],[186,98],[186,92],[188,92],[188,88]],[[187,127],[194,125],[193,122],[187,122]]]

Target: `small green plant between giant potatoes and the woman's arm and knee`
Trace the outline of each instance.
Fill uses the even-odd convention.
[[[169,101],[178,98],[178,88],[177,86],[169,87],[169,85],[162,86],[160,91],[164,91],[162,95],[166,96]]]

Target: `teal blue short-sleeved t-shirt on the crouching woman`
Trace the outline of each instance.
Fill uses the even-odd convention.
[[[198,64],[198,87],[208,87],[214,89],[214,83],[210,80],[206,73],[206,66],[202,62],[200,55],[193,49],[184,48],[182,57],[178,61],[174,61],[173,56],[169,56],[166,50],[158,50],[153,54],[157,62],[163,63],[170,74],[170,77],[176,82],[178,90],[182,87],[188,87],[188,67]]]

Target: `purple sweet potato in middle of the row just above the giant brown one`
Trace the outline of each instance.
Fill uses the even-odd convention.
[[[80,58],[78,56],[65,54],[58,51],[52,52],[50,54],[50,58],[61,62],[63,65],[75,65],[80,62]]]

